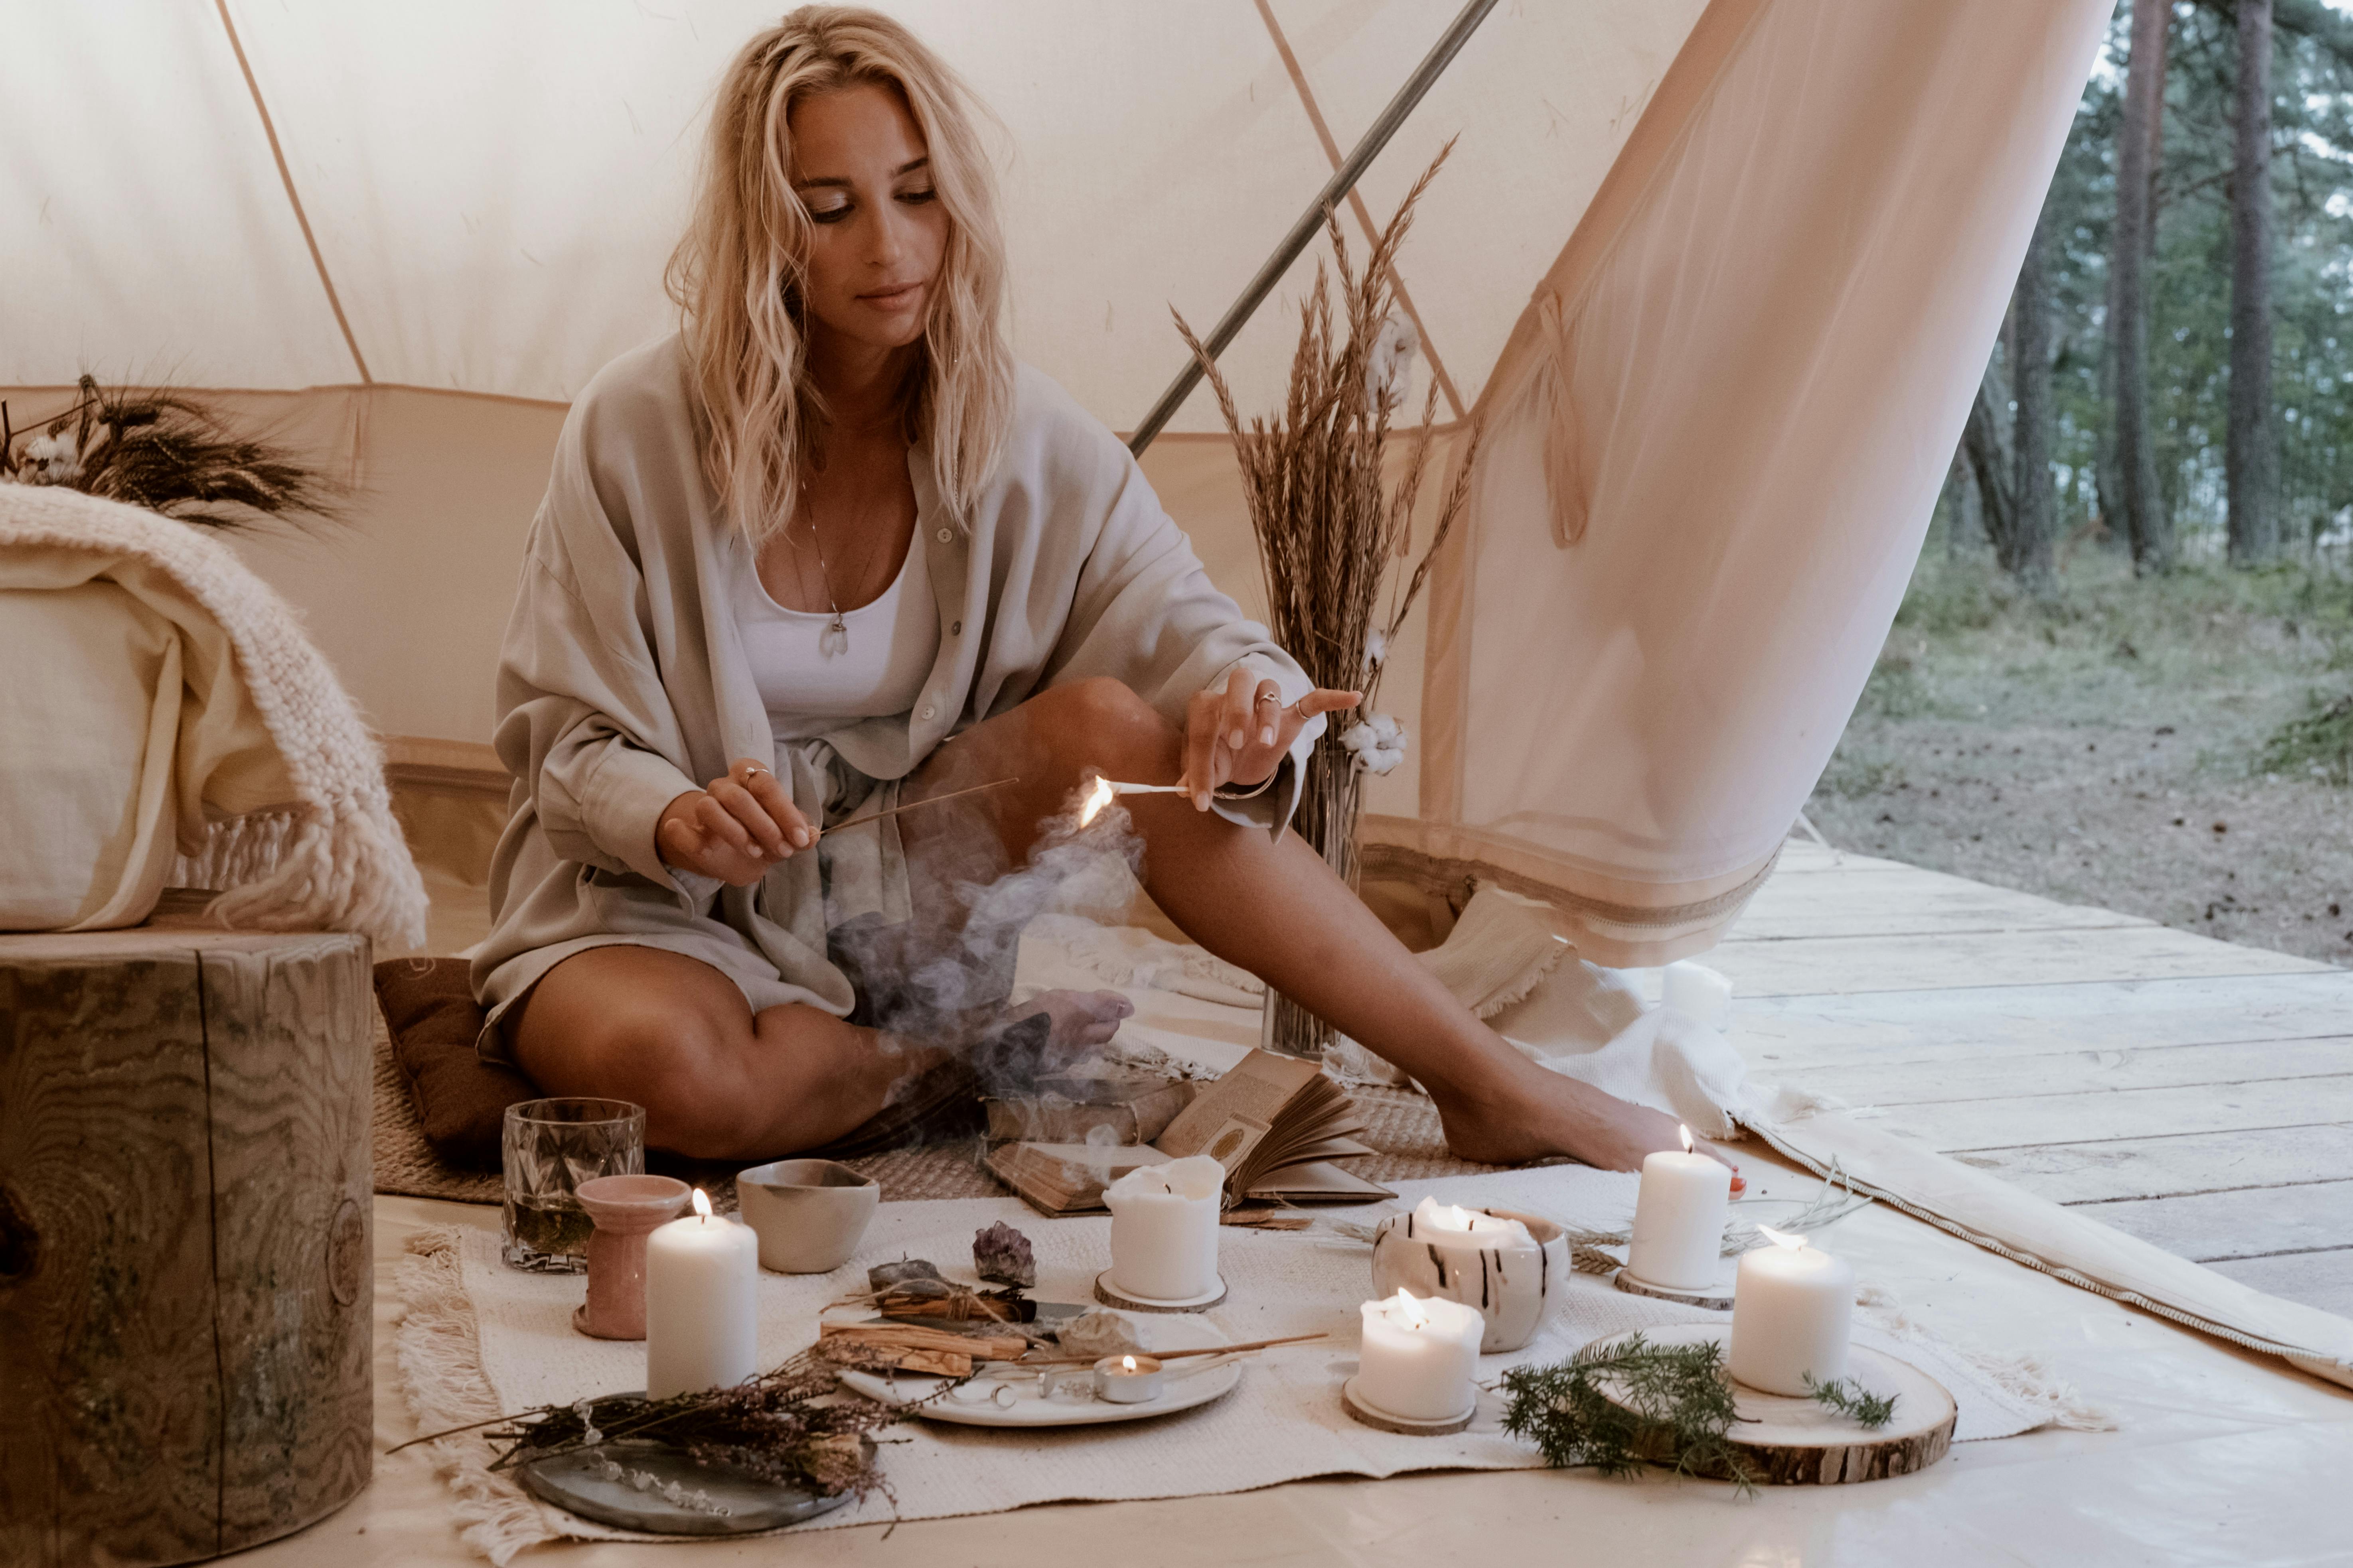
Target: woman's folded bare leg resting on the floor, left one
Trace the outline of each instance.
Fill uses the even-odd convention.
[[[814,1150],[944,1056],[814,1006],[753,1016],[711,964],[631,945],[591,947],[551,969],[506,1037],[546,1093],[635,1100],[649,1145],[696,1159]]]

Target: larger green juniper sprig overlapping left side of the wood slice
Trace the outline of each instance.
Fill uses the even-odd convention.
[[[1515,1366],[1504,1396],[1504,1429],[1548,1465],[1626,1476],[1652,1462],[1755,1490],[1727,1439],[1737,1406],[1720,1342],[1652,1345],[1635,1333],[1555,1366]]]

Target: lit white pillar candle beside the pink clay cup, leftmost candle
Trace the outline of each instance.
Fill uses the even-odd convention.
[[[694,1213],[645,1239],[645,1396],[732,1387],[760,1371],[760,1237]]]

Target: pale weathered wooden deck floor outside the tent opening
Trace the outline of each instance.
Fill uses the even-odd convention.
[[[1814,844],[1704,961],[1760,1079],[2353,1316],[2353,971]]]

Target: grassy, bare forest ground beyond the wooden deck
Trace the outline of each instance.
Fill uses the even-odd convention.
[[[1939,524],[1941,529],[1941,524]],[[2033,599],[1929,538],[1807,802],[1838,849],[2353,964],[2353,578],[2061,550]]]

